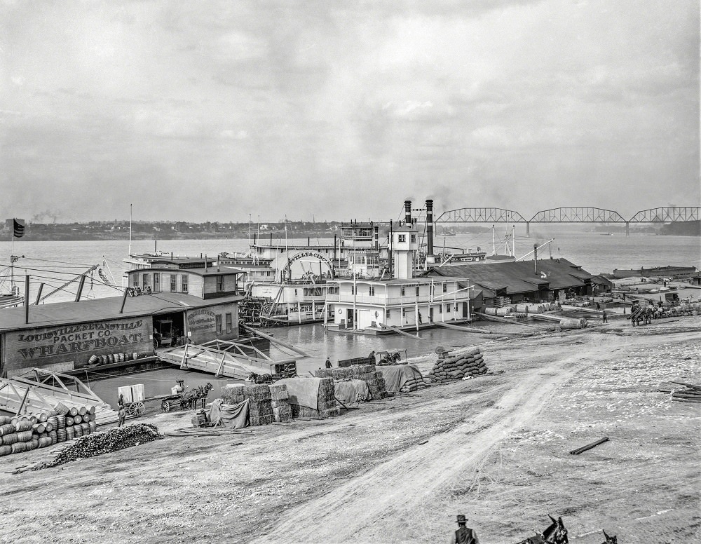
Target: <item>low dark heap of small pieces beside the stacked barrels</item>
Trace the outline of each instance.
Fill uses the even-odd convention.
[[[103,430],[90,436],[78,438],[73,444],[64,447],[53,461],[41,463],[35,466],[34,470],[55,467],[76,459],[95,457],[102,454],[109,454],[112,451],[138,446],[144,442],[153,442],[163,438],[158,433],[158,428],[149,423],[135,423],[125,427],[115,427]]]

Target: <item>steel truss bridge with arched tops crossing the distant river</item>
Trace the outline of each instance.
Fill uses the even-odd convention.
[[[701,206],[666,206],[640,210],[625,219],[614,210],[603,208],[550,208],[536,212],[526,219],[519,212],[503,208],[458,208],[443,212],[435,219],[442,223],[524,223],[526,236],[530,236],[531,223],[620,223],[625,224],[625,236],[629,236],[631,223],[674,223],[699,221]]]

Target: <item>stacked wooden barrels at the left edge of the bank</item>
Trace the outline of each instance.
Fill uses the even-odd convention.
[[[59,403],[36,416],[0,416],[0,456],[65,442],[96,429],[95,407],[68,408]]]

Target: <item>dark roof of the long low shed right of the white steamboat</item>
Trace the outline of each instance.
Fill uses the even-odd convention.
[[[537,285],[547,283],[550,290],[582,287],[592,274],[567,259],[538,260],[538,271],[533,261],[479,264],[447,264],[427,272],[435,276],[463,276],[475,285],[496,290],[506,287],[507,294],[533,292]],[[546,277],[541,276],[545,273]]]

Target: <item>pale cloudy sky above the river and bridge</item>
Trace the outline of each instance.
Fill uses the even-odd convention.
[[[0,217],[700,205],[697,0],[0,0]]]

